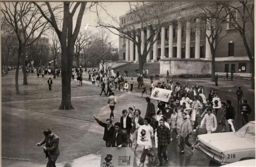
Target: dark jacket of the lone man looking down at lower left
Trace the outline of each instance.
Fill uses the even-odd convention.
[[[58,159],[58,156],[60,155],[60,151],[58,149],[58,136],[52,133],[51,137],[46,137],[40,142],[40,146],[42,144],[45,144],[46,151],[48,153],[48,156],[50,156],[51,160],[56,161]]]

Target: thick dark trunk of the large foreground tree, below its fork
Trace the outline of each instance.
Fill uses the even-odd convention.
[[[61,46],[61,106],[60,110],[74,109],[71,104],[71,73],[73,64],[73,52],[68,52],[69,48]],[[71,49],[70,49],[71,50]],[[71,59],[70,59],[70,57]],[[70,68],[71,67],[71,68]]]

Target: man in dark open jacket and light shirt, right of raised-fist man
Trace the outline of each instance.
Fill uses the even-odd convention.
[[[127,134],[127,139],[128,139],[128,147],[131,147],[131,118],[127,116],[127,110],[122,110],[123,116],[120,118],[120,123],[121,123],[121,129],[124,133]]]

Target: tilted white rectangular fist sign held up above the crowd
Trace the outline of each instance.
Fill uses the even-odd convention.
[[[162,88],[154,88],[152,90],[151,99],[161,100],[163,102],[169,102],[172,91]]]

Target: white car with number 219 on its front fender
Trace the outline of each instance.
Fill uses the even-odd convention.
[[[255,121],[237,132],[198,135],[195,148],[221,165],[255,159]]]

